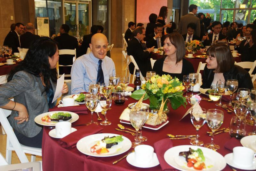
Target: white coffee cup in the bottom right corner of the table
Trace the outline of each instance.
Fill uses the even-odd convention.
[[[251,167],[256,154],[247,147],[233,148],[233,163],[240,167]]]

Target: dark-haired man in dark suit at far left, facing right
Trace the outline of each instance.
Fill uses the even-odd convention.
[[[19,36],[23,34],[24,24],[16,23],[15,30],[9,32],[4,39],[4,46],[12,48],[12,53],[19,52],[18,47],[20,47]]]

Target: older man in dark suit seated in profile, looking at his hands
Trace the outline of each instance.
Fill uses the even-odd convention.
[[[143,50],[140,41],[145,38],[146,30],[143,27],[137,27],[133,31],[134,37],[129,41],[127,47],[127,55],[132,55],[134,60],[136,61],[140,72],[143,77],[146,77],[147,71],[151,71],[150,64],[150,52],[153,51],[154,47],[148,48],[147,50]],[[133,74],[134,65],[133,63],[129,64],[130,73]]]

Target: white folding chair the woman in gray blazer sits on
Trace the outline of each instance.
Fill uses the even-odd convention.
[[[11,110],[0,108],[0,122],[7,134],[7,140],[6,140],[7,163],[8,164],[12,163],[12,151],[16,152],[21,163],[29,162],[25,153],[32,154],[31,161],[36,161],[36,155],[42,156],[42,149],[35,148],[35,147],[28,147],[19,143],[17,137],[15,136],[12,130],[12,126],[7,120],[7,117],[11,115],[11,112],[12,112]]]

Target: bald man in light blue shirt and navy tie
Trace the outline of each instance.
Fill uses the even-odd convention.
[[[106,56],[108,39],[102,33],[92,36],[89,44],[91,53],[80,56],[71,68],[71,93],[89,92],[90,82],[109,82],[109,75],[115,74],[115,64]]]

